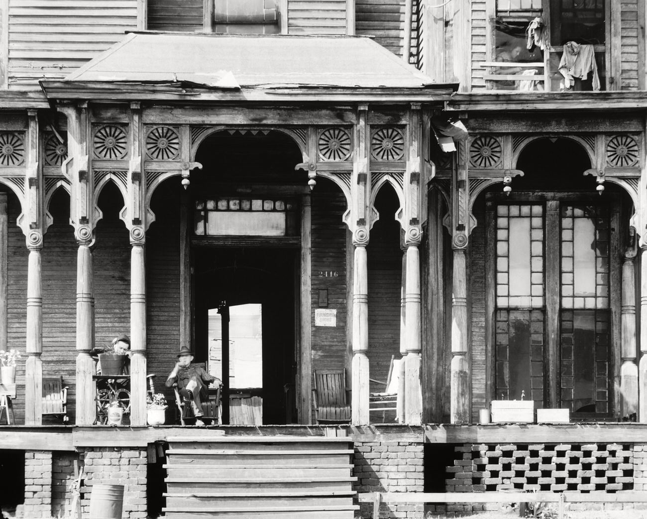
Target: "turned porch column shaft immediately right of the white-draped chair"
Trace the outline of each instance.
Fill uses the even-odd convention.
[[[415,243],[406,249],[406,357],[404,357],[404,421],[422,423],[422,355],[420,335],[420,251]]]

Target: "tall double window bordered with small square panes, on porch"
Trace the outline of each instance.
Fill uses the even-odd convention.
[[[609,232],[608,204],[562,197],[489,207],[495,227],[489,236],[496,239],[493,396],[520,399],[523,393],[537,407],[608,415],[611,272],[617,267],[609,256],[617,237]]]

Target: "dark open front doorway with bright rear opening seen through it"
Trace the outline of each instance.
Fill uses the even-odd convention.
[[[296,265],[296,248],[194,249],[196,361],[223,381],[225,424],[296,421]]]

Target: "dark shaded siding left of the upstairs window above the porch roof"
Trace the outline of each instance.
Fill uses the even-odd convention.
[[[203,0],[148,0],[149,30],[203,30]]]

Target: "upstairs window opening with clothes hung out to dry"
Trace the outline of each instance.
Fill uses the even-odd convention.
[[[606,89],[608,10],[607,0],[497,0],[489,87]]]

